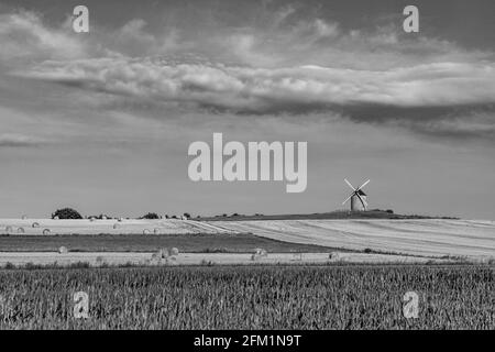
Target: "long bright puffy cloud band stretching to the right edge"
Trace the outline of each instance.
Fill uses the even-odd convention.
[[[493,63],[439,63],[377,72],[99,58],[45,62],[19,75],[114,95],[194,102],[238,112],[273,113],[298,106],[311,110],[360,103],[404,108],[495,103]]]

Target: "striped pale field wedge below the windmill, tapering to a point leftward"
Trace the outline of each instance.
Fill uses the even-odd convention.
[[[495,257],[495,221],[273,220],[212,223],[230,231],[292,243],[427,256]]]

